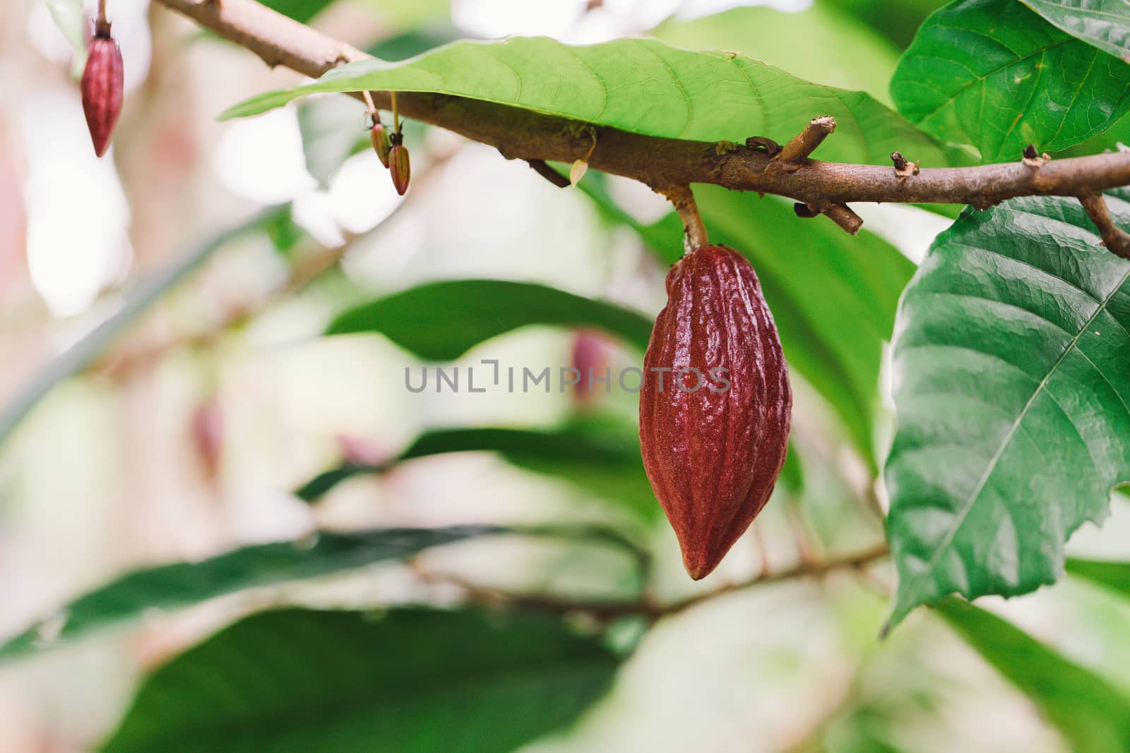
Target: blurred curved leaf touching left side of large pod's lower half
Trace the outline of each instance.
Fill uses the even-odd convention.
[[[603,499],[624,501],[641,517],[650,519],[659,513],[643,470],[638,435],[583,424],[556,430],[437,429],[420,435],[388,463],[346,463],[314,478],[295,493],[313,501],[358,474],[385,473],[419,457],[485,450],[501,453],[519,467],[556,476]]]

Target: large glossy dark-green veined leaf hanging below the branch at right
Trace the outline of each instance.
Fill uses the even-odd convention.
[[[1130,225],[1130,204],[1107,203]],[[1078,202],[967,209],[903,295],[887,461],[893,622],[959,593],[1053,583],[1063,542],[1130,480],[1130,261]]]

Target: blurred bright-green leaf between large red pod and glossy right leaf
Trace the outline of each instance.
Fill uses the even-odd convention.
[[[831,403],[875,466],[883,343],[914,265],[878,236],[798,220],[790,202],[695,186],[711,238],[753,263],[789,367]],[[817,291],[817,295],[814,295]]]

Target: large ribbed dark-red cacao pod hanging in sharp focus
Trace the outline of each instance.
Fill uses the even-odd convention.
[[[703,246],[667,275],[640,392],[643,464],[692,578],[710,575],[768,501],[792,391],[754,268]]]

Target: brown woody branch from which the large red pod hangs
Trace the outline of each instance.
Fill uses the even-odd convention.
[[[365,56],[356,47],[254,0],[158,2],[246,47],[269,65],[286,65],[306,76],[319,77]],[[374,93],[374,99],[379,107],[390,105],[388,93]],[[1058,159],[1040,166],[1017,159],[977,167],[922,168],[916,175],[898,175],[889,166],[812,160],[808,154],[833,125],[828,121],[817,124],[823,119],[814,121],[779,155],[771,156],[756,145],[720,148],[722,145],[714,142],[660,139],[610,128],[565,128],[558,117],[445,95],[400,93],[398,104],[407,117],[490,145],[512,159],[572,163],[592,147],[596,131],[598,143],[588,158],[594,169],[635,178],[658,191],[714,183],[788,196],[812,213],[829,216],[849,231],[860,224],[846,207],[854,201],[972,204],[984,209],[1014,196],[1084,196],[1130,184],[1130,152]],[[780,159],[780,155],[785,158]],[[789,169],[781,169],[783,165]]]

